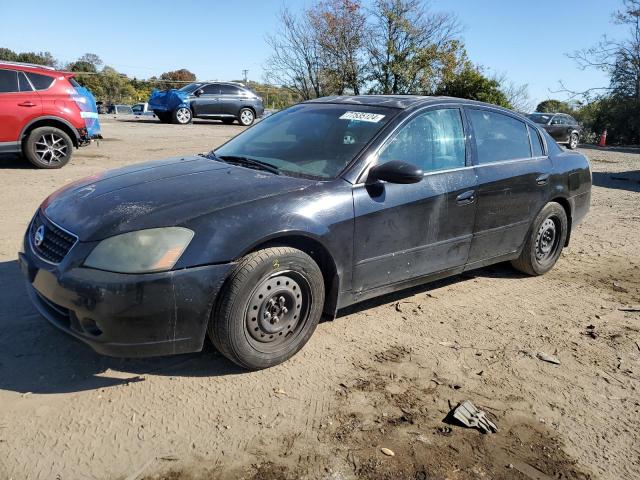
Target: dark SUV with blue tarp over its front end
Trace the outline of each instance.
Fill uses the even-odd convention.
[[[264,113],[262,98],[239,83],[190,83],[179,90],[154,90],[149,109],[168,123],[190,123],[194,118],[210,118],[248,127]]]

